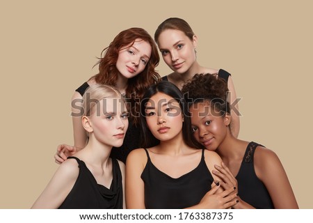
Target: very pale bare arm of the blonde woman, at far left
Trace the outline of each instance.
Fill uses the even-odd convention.
[[[31,208],[52,209],[61,206],[72,190],[78,175],[79,168],[76,160],[63,162]]]

